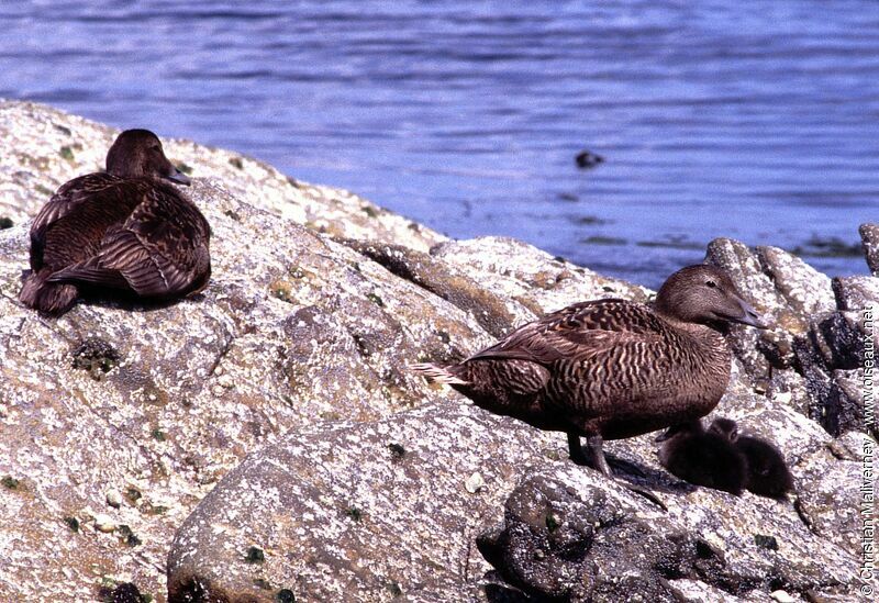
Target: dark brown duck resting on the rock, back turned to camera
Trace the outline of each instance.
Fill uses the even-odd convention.
[[[168,300],[200,291],[211,275],[208,221],[163,180],[189,185],[147,130],[127,130],[107,171],[63,185],[31,225],[31,273],[19,298],[62,314],[81,289]]]

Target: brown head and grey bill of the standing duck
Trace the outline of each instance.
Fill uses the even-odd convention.
[[[706,264],[681,268],[668,277],[656,294],[654,308],[660,314],[688,323],[742,323],[768,328],[742,298],[730,275]]]

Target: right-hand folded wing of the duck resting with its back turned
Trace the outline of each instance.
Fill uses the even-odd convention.
[[[175,189],[154,183],[121,225],[107,231],[98,254],[49,277],[132,289],[144,298],[185,294],[210,275],[210,226]]]

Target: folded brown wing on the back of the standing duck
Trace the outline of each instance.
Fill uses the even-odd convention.
[[[548,366],[587,360],[620,346],[643,351],[661,336],[663,325],[647,308],[624,300],[596,300],[547,314],[467,360],[505,358]]]

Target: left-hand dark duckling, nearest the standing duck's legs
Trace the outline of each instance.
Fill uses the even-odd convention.
[[[745,456],[724,436],[705,432],[700,420],[669,427],[661,442],[659,462],[680,479],[738,495],[745,488]]]

